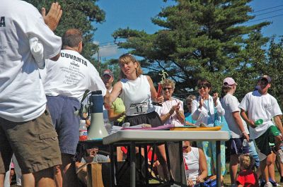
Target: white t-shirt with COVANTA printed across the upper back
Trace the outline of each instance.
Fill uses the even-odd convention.
[[[81,102],[86,90],[101,90],[103,96],[106,94],[98,71],[79,52],[62,50],[58,61],[46,61],[45,71],[44,88],[48,96],[65,95]]]

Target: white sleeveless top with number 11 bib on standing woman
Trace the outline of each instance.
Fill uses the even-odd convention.
[[[154,111],[151,104],[150,85],[146,76],[141,75],[136,80],[123,78],[120,82],[122,83],[120,97],[125,104],[127,116],[137,116]]]

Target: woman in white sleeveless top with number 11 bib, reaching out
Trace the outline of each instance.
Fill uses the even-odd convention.
[[[156,97],[157,92],[151,78],[142,75],[139,61],[132,54],[122,54],[119,57],[119,65],[121,79],[115,83],[110,94],[110,101],[114,102],[120,96],[126,109],[125,122],[129,122],[130,126],[141,123],[151,124],[153,127],[162,126],[163,123],[151,102],[162,104],[164,98]],[[158,146],[158,160],[163,166],[166,179],[169,179],[164,145]]]

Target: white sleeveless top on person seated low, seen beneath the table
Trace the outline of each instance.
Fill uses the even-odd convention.
[[[200,152],[197,147],[192,147],[190,152],[183,152],[185,174],[187,179],[197,181],[197,176],[200,174]]]

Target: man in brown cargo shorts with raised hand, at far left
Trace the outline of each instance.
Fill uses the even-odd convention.
[[[23,186],[54,186],[53,166],[62,161],[29,37],[42,42],[45,59],[57,60],[62,41],[52,31],[61,16],[57,3],[45,16],[45,8],[40,15],[25,1],[1,1],[0,186],[13,152],[23,172]]]

